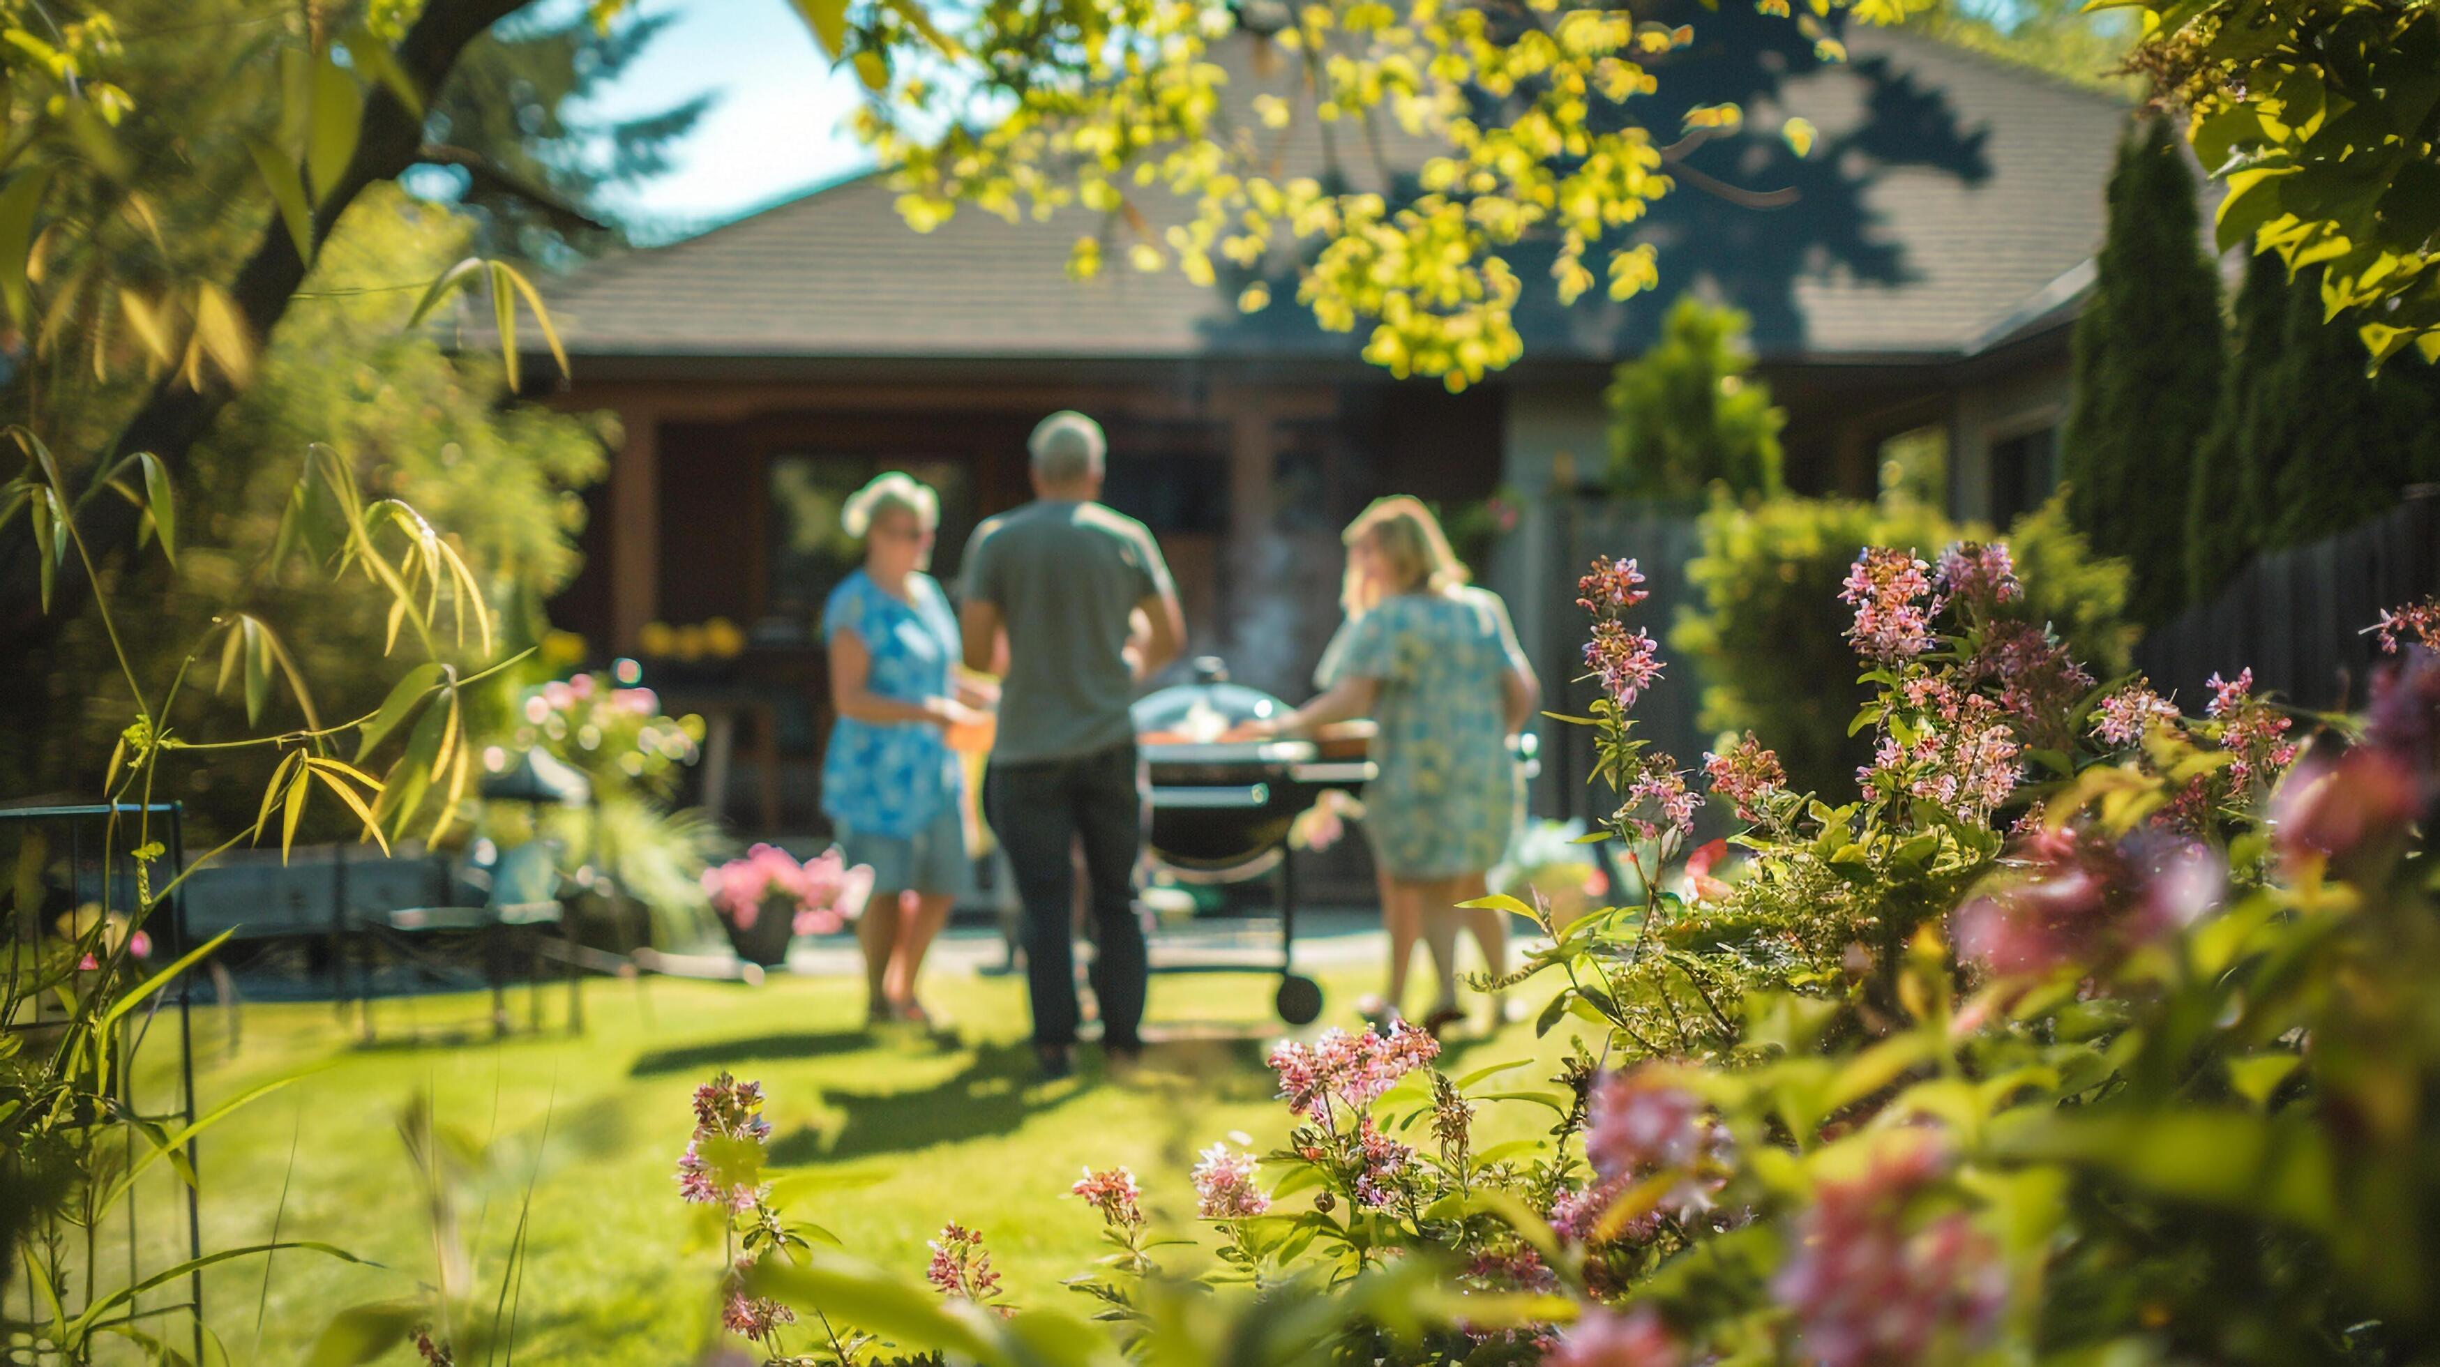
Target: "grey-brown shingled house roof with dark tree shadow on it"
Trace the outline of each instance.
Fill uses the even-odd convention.
[[[1852,27],[1850,61],[1820,63],[1789,24],[1730,10],[1698,29],[1715,49],[1657,71],[1662,93],[1637,117],[1667,129],[1684,107],[1737,100],[1749,132],[1701,146],[1688,166],[1745,188],[1793,186],[1796,203],[1742,207],[1681,176],[1635,227],[1659,247],[1659,298],[1596,290],[1559,308],[1549,249],[1510,251],[1525,276],[1525,364],[1632,356],[1667,295],[1688,288],[1752,312],[1767,361],[1962,356],[2072,317],[2074,290],[2059,288],[2101,244],[2120,103],[1893,29]],[[1232,100],[1286,78],[1257,76],[1247,54],[1230,66]],[[1789,117],[1820,129],[1808,159],[1774,137]],[[1288,161],[1320,166],[1305,137]],[[1362,139],[1342,132],[1349,142]],[[1386,168],[1425,154],[1401,142]],[[1100,227],[1086,210],[1017,225],[961,210],[917,234],[893,200],[886,178],[861,176],[588,264],[547,288],[551,320],[571,354],[632,361],[1347,359],[1362,344],[1315,327],[1286,271],[1266,312],[1240,315],[1244,276],[1203,288],[1132,271],[1122,249],[1100,278],[1071,281],[1069,247]],[[1161,222],[1181,210],[1147,212]]]

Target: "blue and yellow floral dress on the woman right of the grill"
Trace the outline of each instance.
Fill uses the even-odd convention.
[[[1396,879],[1481,874],[1508,854],[1525,776],[1508,749],[1505,679],[1525,666],[1508,608],[1484,588],[1401,593],[1330,637],[1315,684],[1374,679],[1364,830]]]

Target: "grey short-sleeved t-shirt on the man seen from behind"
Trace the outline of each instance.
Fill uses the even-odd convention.
[[[966,601],[1008,625],[993,764],[1066,759],[1130,735],[1127,615],[1171,593],[1161,547],[1100,503],[1035,500],[966,542]]]

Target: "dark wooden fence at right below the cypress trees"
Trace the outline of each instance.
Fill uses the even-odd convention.
[[[2440,488],[2318,542],[2255,557],[2211,603],[2186,608],[2135,647],[2135,666],[2191,710],[2213,674],[2255,671],[2257,691],[2306,708],[2364,701],[2379,657],[2364,627],[2384,608],[2440,591]]]

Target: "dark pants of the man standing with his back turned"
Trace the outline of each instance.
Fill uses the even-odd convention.
[[[1137,1047],[1144,1018],[1144,928],[1135,918],[1135,859],[1144,840],[1135,742],[1069,759],[1000,764],[983,776],[991,832],[1008,849],[1025,903],[1025,986],[1035,1001],[1035,1045],[1076,1042],[1076,864],[1093,913],[1093,996],[1100,1037]]]

